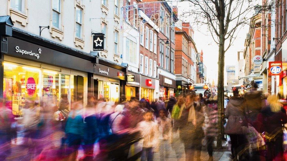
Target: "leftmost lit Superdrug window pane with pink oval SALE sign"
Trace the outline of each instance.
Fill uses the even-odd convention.
[[[4,63],[3,98],[14,115],[22,115],[26,101],[39,101],[40,75],[40,69]]]

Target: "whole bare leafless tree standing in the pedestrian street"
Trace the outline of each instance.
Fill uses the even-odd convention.
[[[269,9],[271,4],[262,6],[251,0],[181,0],[188,1],[191,9],[183,13],[198,24],[205,24],[218,45],[218,135],[217,148],[222,148],[223,105],[224,105],[224,55],[236,39],[240,28],[250,18]],[[259,1],[260,2],[260,1]],[[262,1],[261,1],[262,3]]]

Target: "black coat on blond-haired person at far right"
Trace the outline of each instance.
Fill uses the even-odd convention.
[[[282,138],[282,124],[287,123],[286,111],[283,108],[281,111],[275,113],[271,111],[268,105],[261,110],[261,113],[258,115],[258,120],[262,121],[263,124],[260,132],[264,132],[267,139],[268,137],[271,137],[271,140],[276,140],[278,137]]]

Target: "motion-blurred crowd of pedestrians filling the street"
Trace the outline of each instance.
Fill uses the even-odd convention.
[[[224,133],[233,160],[285,159],[287,101],[278,98],[260,91],[225,96]],[[78,160],[80,149],[84,154],[79,160],[150,161],[154,152],[167,160],[176,148],[174,133],[179,133],[187,161],[201,160],[203,147],[213,160],[213,144],[219,136],[217,96],[207,98],[191,92],[155,101],[121,96],[121,102],[116,103],[89,96],[83,107],[82,102],[70,106],[63,94],[58,106],[50,102],[26,100],[23,118],[16,121],[9,103],[1,101],[0,160],[11,155],[11,143],[19,139],[19,146],[29,152],[24,160]],[[22,138],[17,137],[20,125]],[[56,139],[61,145],[54,144]]]

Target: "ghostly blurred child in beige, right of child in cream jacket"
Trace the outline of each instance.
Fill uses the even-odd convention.
[[[171,119],[166,117],[166,110],[159,110],[159,117],[156,119],[159,128],[159,154],[161,160],[168,158],[171,147]],[[165,154],[165,155],[164,155]]]

